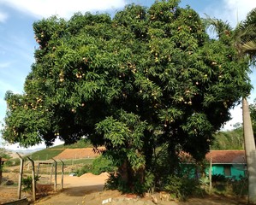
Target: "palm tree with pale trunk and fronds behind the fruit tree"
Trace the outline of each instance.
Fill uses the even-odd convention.
[[[249,57],[251,65],[256,65],[256,9],[253,9],[247,15],[247,19],[236,26],[234,30],[227,22],[211,19],[209,16],[207,16],[205,22],[206,27],[210,31],[216,32],[218,38],[229,35],[241,58]],[[256,204],[256,149],[247,96],[242,97],[242,115],[247,158],[248,202]]]

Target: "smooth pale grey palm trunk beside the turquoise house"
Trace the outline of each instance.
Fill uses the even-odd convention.
[[[242,99],[243,132],[247,157],[248,202],[256,204],[256,151],[247,99]]]

